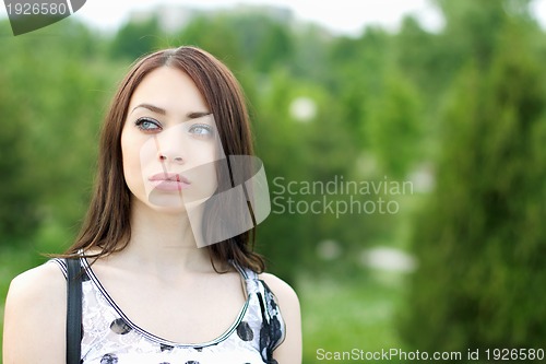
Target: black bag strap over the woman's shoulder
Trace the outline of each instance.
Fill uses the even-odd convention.
[[[82,344],[82,268],[67,259],[67,364],[80,364]]]

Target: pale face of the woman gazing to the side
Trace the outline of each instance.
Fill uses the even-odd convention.
[[[214,117],[185,72],[162,67],[149,73],[127,113],[121,151],[133,202],[187,211],[214,193],[223,149]]]

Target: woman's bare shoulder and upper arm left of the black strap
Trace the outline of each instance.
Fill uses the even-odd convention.
[[[3,363],[62,362],[66,292],[64,275],[55,263],[12,280],[5,300]]]

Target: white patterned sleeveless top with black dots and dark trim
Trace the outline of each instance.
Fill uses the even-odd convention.
[[[200,344],[162,339],[134,325],[116,305],[86,259],[82,282],[82,364],[274,364],[273,350],[285,337],[275,297],[258,274],[234,265],[247,286],[237,319],[218,338]],[[67,262],[51,259],[67,277]]]

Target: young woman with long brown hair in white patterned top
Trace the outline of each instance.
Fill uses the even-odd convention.
[[[3,363],[66,362],[62,258],[85,272],[84,364],[300,363],[298,298],[263,272],[253,232],[206,233],[224,221],[222,199],[210,203],[221,166],[251,154],[244,96],[222,62],[193,47],[135,62],[103,127],[76,242],[11,283]]]

